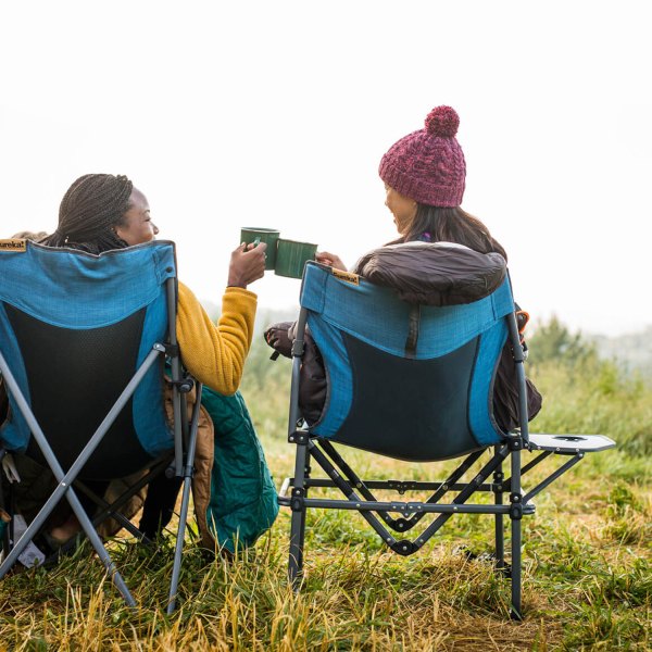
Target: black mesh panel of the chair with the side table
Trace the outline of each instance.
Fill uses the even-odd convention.
[[[342,336],[353,371],[353,402],[334,441],[409,461],[481,448],[467,418],[478,338],[442,358],[409,360]]]

